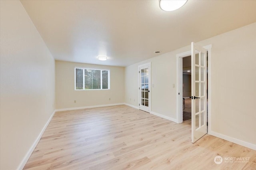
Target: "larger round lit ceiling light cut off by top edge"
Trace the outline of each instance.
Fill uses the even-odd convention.
[[[188,0],[159,0],[159,6],[164,11],[174,11],[186,4]]]

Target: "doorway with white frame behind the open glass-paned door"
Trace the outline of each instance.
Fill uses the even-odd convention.
[[[211,47],[212,45],[204,46],[207,49],[207,73],[206,73],[206,96],[207,96],[207,125],[208,132],[211,131]],[[177,123],[183,121],[191,121],[191,51],[186,51],[176,55],[177,57]],[[188,83],[190,82],[190,83]],[[197,86],[196,86],[197,87]],[[195,107],[195,106],[194,106]],[[193,109],[193,108],[192,108]],[[193,119],[192,119],[193,120]]]

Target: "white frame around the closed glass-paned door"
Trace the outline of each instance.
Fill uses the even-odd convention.
[[[140,109],[140,67],[149,66],[148,71],[148,90],[150,91],[148,93],[148,113],[151,113],[151,62],[138,65],[138,109]]]

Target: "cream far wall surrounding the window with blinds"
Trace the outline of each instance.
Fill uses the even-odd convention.
[[[56,61],[56,109],[124,103],[124,67]],[[110,69],[110,89],[74,90],[74,68]],[[110,100],[109,100],[110,98]],[[76,100],[76,103],[74,101]]]

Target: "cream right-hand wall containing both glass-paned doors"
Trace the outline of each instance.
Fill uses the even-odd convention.
[[[212,132],[255,147],[256,23],[198,44],[212,44]],[[190,45],[126,67],[125,102],[138,107],[138,65],[151,61],[152,111],[176,120],[176,54],[189,50]]]

